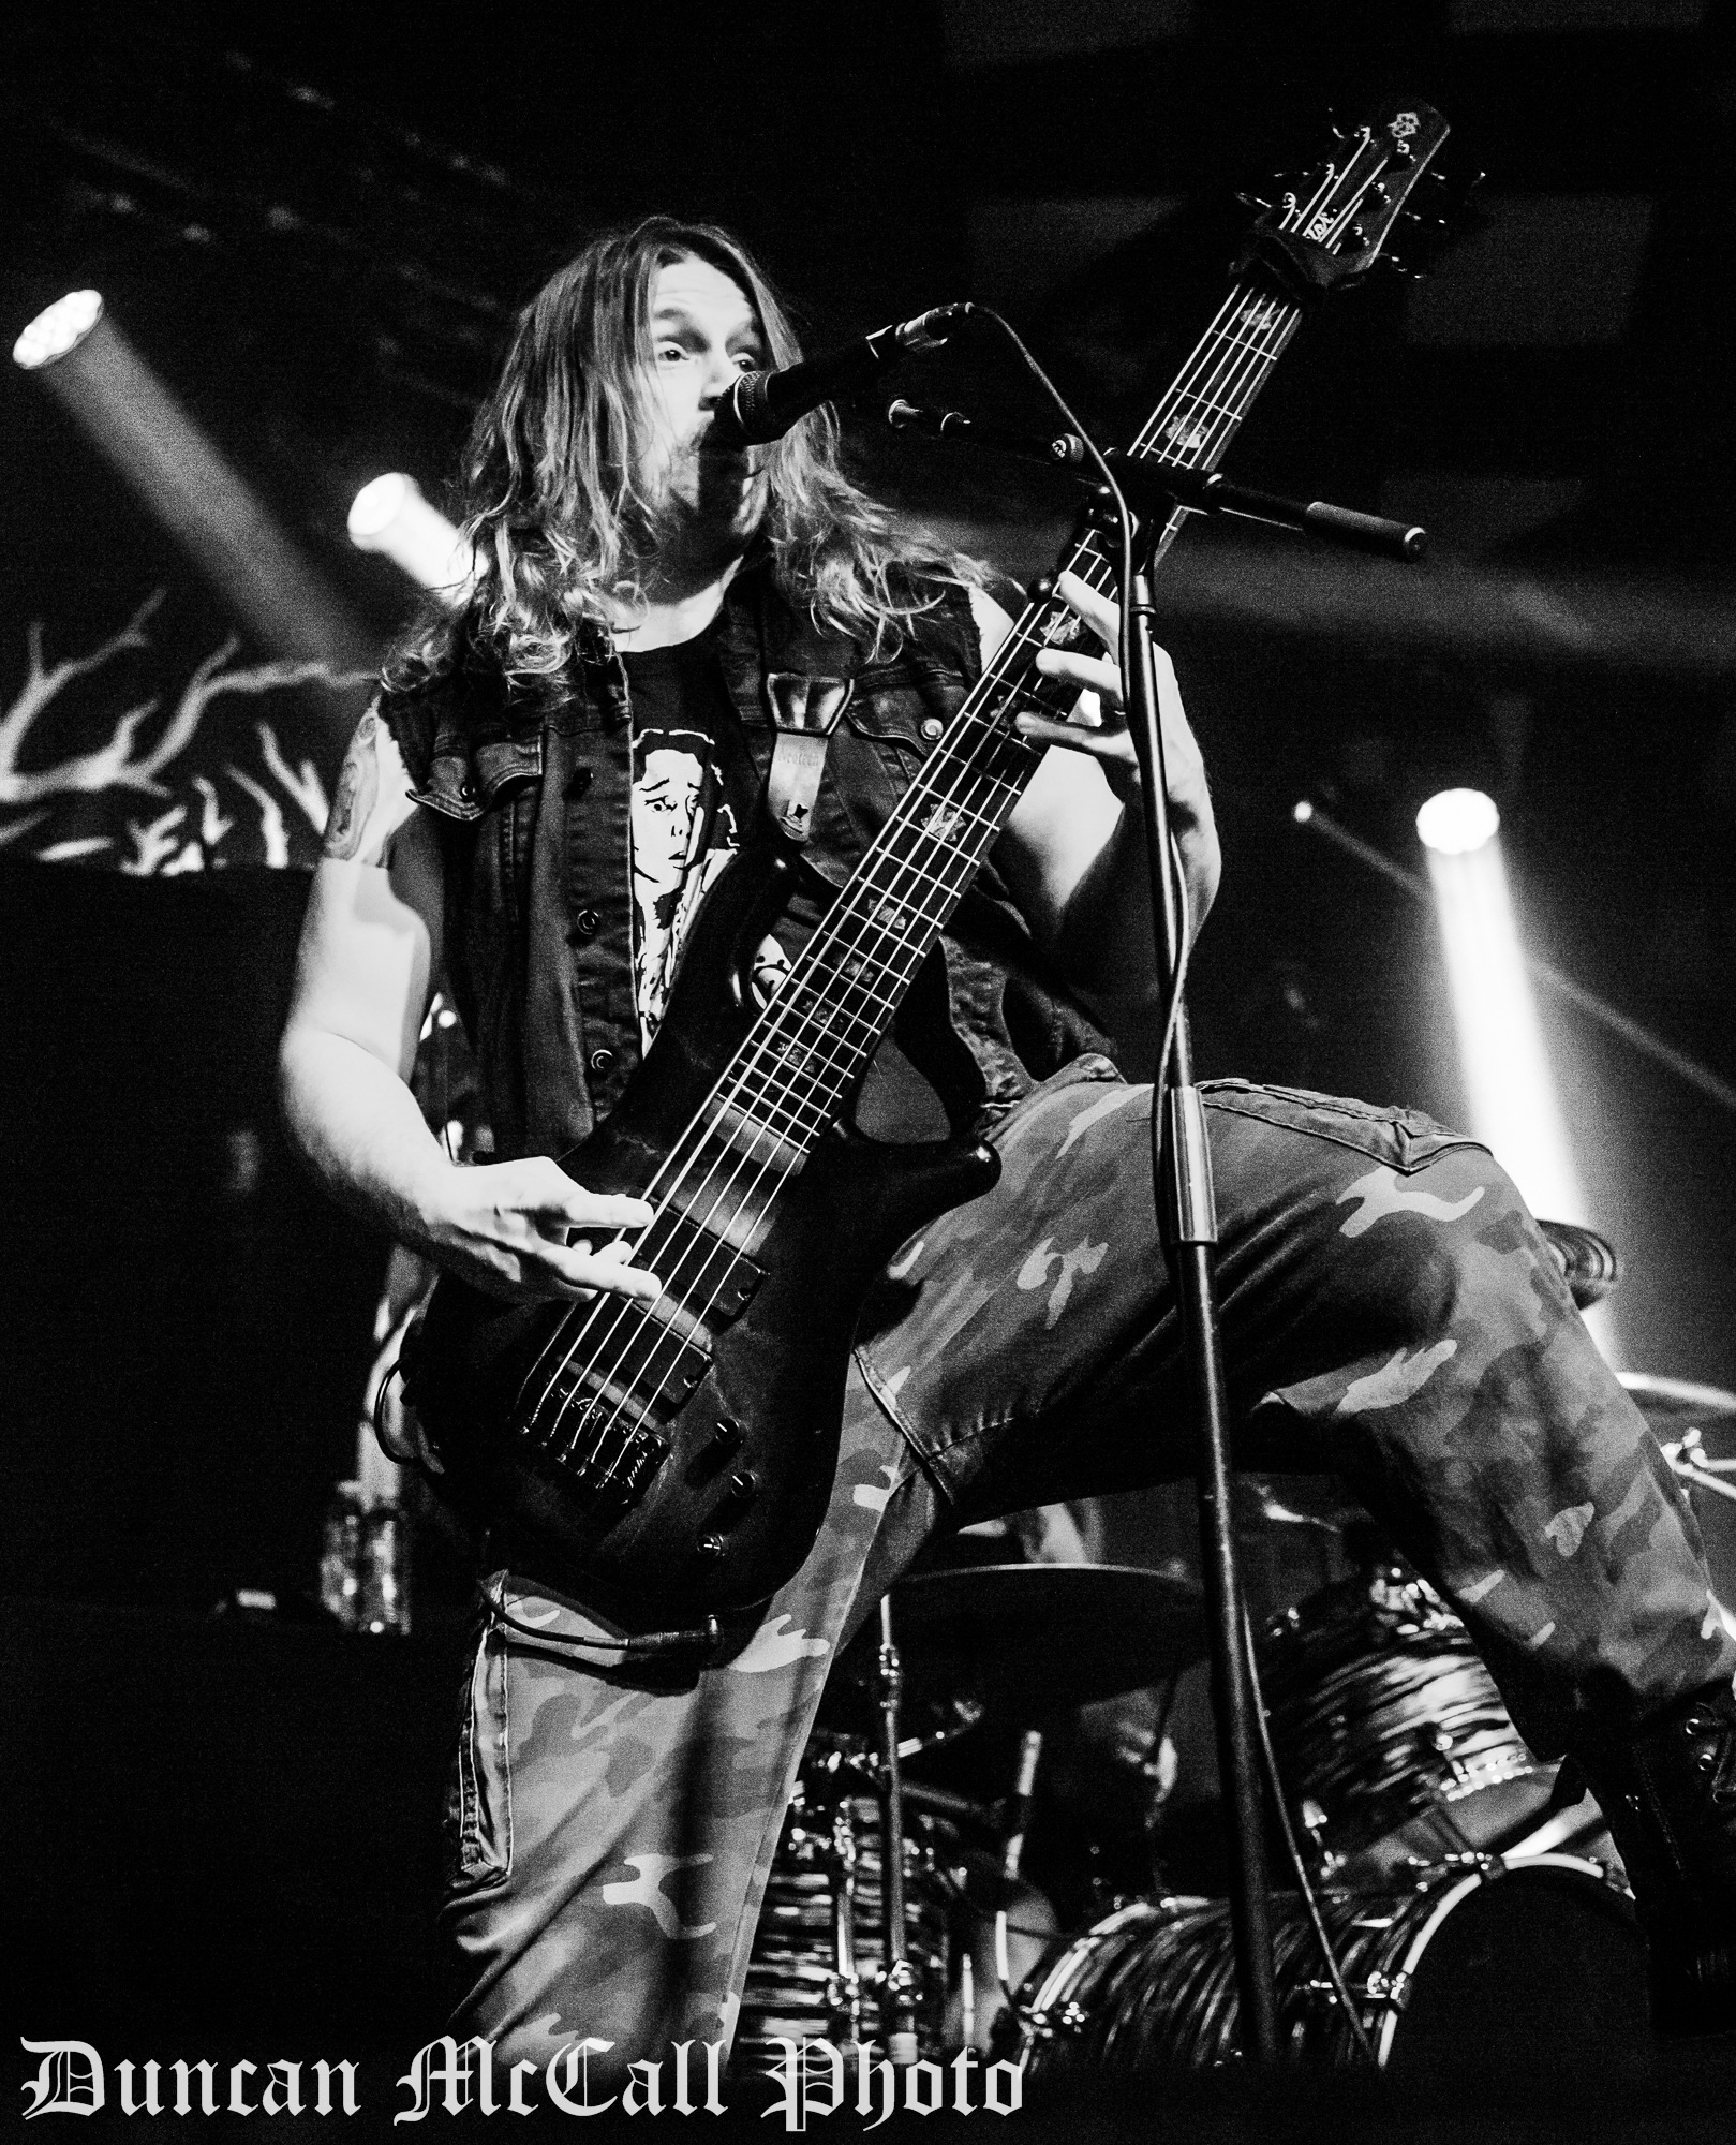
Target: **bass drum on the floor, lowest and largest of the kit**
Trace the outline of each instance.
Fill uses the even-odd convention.
[[[1357,2063],[1314,1930],[1273,1896],[1279,2046]],[[1410,1890],[1322,1892],[1320,1913],[1380,2066],[1584,2068],[1644,2051],[1646,1963],[1627,1892],[1597,1862],[1537,1855],[1423,1870]],[[1204,2070],[1234,2059],[1224,1900],[1136,1900],[1020,1991],[1024,2068]]]

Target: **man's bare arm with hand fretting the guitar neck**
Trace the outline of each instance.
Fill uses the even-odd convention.
[[[1050,751],[1018,800],[997,856],[1039,946],[1110,1034],[1138,1053],[1142,1045],[1155,1045],[1147,1017],[1159,993],[1138,761],[1121,721],[1117,613],[1074,575],[1061,575],[1057,594],[1084,618],[1106,654],[1037,656],[1044,676],[1080,686],[1080,708],[1069,723],[1018,719],[1020,731]],[[973,609],[988,656],[1012,620],[988,598],[973,596]],[[1217,892],[1217,826],[1204,759],[1181,706],[1174,667],[1162,650],[1157,701],[1170,817],[1198,931]]]

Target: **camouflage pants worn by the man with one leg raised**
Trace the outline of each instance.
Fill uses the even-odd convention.
[[[727,2036],[827,1665],[879,1594],[939,1525],[1187,1471],[1149,1090],[1097,1070],[1022,1105],[999,1186],[894,1261],[827,1525],[731,1660],[611,1667],[581,1602],[487,1579],[452,2031],[508,2061],[594,2036],[607,2066]],[[1730,1677],[1693,1519],[1490,1154],[1243,1081],[1207,1115],[1239,1459],[1348,1476],[1539,1750]]]

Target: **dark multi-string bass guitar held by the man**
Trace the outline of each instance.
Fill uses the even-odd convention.
[[[1367,270],[1445,135],[1427,105],[1395,105],[1260,217],[1134,457],[1217,465],[1305,309]],[[1095,534],[1061,564],[1112,590]],[[442,1491],[632,1622],[750,1607],[799,1568],[862,1298],[913,1231],[999,1173],[986,1145],[881,1145],[842,1120],[1042,757],[1014,714],[1074,697],[1033,659],[1078,635],[1033,596],[763,1008],[746,967],[802,852],[767,819],[718,877],[654,1047],[559,1156],[592,1190],[654,1205],[637,1259],[662,1298],[506,1304],[444,1278],[405,1347]]]

